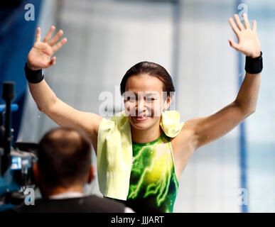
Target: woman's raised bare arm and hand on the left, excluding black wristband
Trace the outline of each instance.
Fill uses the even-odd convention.
[[[50,40],[54,30],[55,27],[52,26],[41,42],[41,29],[37,29],[36,43],[34,43],[33,48],[28,53],[27,66],[30,70],[41,70],[55,65],[56,57],[52,57],[52,55],[67,42],[67,39],[63,38],[58,42],[63,35],[63,31],[60,30]],[[102,116],[77,111],[65,104],[55,96],[55,93],[44,79],[36,84],[28,82],[28,87],[40,111],[45,113],[55,123],[58,123],[59,126],[81,128],[86,131],[92,140],[95,151],[97,150],[97,131],[99,123],[102,121]]]

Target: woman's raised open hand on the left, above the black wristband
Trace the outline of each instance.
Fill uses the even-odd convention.
[[[36,43],[34,43],[33,48],[28,52],[27,66],[30,70],[41,70],[55,65],[56,57],[52,59],[50,57],[67,42],[67,38],[63,38],[58,42],[59,38],[63,35],[63,31],[60,30],[50,40],[54,30],[55,26],[52,26],[43,42],[41,42],[41,29],[37,28]]]

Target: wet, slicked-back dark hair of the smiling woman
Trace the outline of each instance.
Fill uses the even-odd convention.
[[[175,92],[173,80],[164,67],[153,62],[139,62],[132,66],[122,78],[120,83],[120,93],[123,95],[125,92],[126,81],[129,77],[139,74],[149,74],[152,77],[157,77],[163,82],[163,92]]]

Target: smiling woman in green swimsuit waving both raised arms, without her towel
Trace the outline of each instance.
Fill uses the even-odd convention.
[[[126,122],[129,122],[133,150],[129,187],[126,188],[126,192],[129,193],[124,203],[135,211],[173,211],[178,179],[194,150],[222,137],[256,110],[262,69],[261,47],[256,33],[256,21],[253,21],[250,29],[247,15],[243,14],[243,18],[244,26],[237,14],[234,15],[235,22],[232,18],[229,19],[239,43],[234,43],[232,40],[229,42],[232,48],[247,56],[245,67],[247,73],[237,98],[217,113],[185,121],[180,131],[168,136],[169,133],[166,133],[163,130],[165,127],[161,125],[166,116],[163,111],[168,109],[173,99],[169,93],[167,97],[162,94],[174,91],[168,72],[155,63],[140,62],[131,67],[122,79],[121,92],[122,94],[128,92],[124,98],[124,117],[128,119]],[[100,142],[102,139],[100,135],[103,135],[106,118],[77,111],[68,106],[55,96],[43,80],[41,69],[55,64],[55,57],[51,56],[67,41],[63,38],[57,43],[63,31],[59,31],[50,40],[54,30],[54,27],[50,28],[43,42],[41,42],[40,28],[37,30],[36,43],[28,54],[25,67],[28,86],[40,111],[60,126],[84,129],[90,135],[97,154],[97,145],[100,145],[101,151],[103,150],[104,142]],[[123,146],[124,143],[122,149]],[[103,164],[99,167],[107,169],[106,163]],[[161,171],[162,168],[165,170]]]

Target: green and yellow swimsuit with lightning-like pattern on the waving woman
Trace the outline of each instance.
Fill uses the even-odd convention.
[[[165,133],[150,143],[132,143],[129,194],[123,202],[136,212],[173,212],[178,192],[171,140]]]

